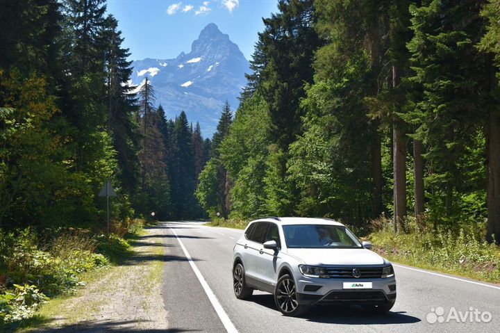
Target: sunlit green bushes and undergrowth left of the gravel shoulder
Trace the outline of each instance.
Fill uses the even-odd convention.
[[[108,266],[99,246],[103,241],[85,229],[45,230],[43,237],[32,228],[0,230],[0,324],[30,318],[47,295],[74,291],[84,284],[82,273]]]

